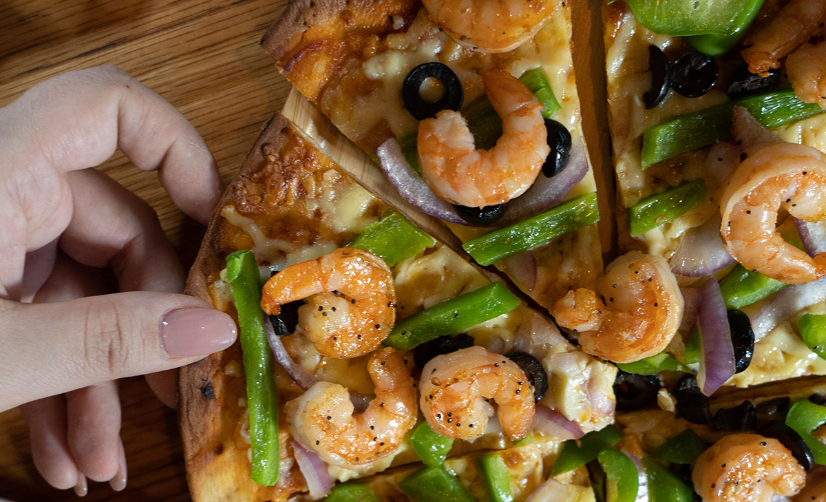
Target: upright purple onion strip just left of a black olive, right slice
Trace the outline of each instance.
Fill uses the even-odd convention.
[[[712,395],[734,375],[734,346],[717,279],[709,277],[698,289],[700,311],[697,313],[697,323],[700,324],[703,357],[700,359],[697,383],[703,394]]]

